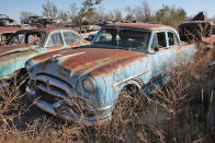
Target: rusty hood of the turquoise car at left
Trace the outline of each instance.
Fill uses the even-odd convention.
[[[5,45],[0,46],[0,56],[33,49],[35,45]]]

